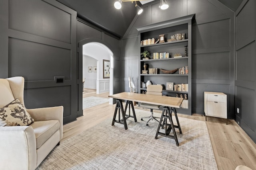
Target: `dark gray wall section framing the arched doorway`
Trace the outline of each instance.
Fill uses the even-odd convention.
[[[97,28],[90,23],[78,19],[76,22],[76,40],[77,40],[77,86],[78,86],[78,116],[83,114],[82,112],[82,68],[83,68],[83,51],[82,46],[90,42],[98,42],[104,44],[113,53],[113,94],[120,92],[120,39],[114,35],[110,35],[100,28]],[[112,88],[112,87],[110,87]]]

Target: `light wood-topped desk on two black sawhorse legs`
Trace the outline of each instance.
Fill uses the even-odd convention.
[[[126,124],[127,118],[133,117],[134,121],[137,122],[132,101],[164,106],[162,115],[160,118],[160,122],[159,122],[159,125],[157,128],[157,131],[156,131],[155,139],[157,139],[158,135],[169,137],[169,138],[175,139],[176,145],[179,146],[177,135],[176,135],[174,128],[178,128],[180,131],[180,134],[182,134],[182,131],[180,128],[180,123],[179,123],[177,112],[176,112],[175,108],[180,108],[183,98],[176,98],[176,97],[169,97],[169,96],[156,96],[156,95],[150,95],[150,94],[138,94],[138,93],[130,93],[130,92],[122,92],[122,93],[118,93],[118,94],[113,94],[108,97],[116,99],[116,108],[115,108],[115,112],[114,112],[112,126],[114,125],[115,122],[122,123],[122,124],[124,124],[124,129],[128,129],[127,124]],[[122,100],[126,100],[125,109],[123,108]],[[126,110],[127,110],[128,105],[129,105],[129,115],[126,115]],[[130,115],[130,107],[132,107],[133,116]],[[117,111],[118,111],[118,116],[119,116],[118,121],[116,120]],[[122,113],[122,118],[123,118],[122,120],[120,120],[120,111]],[[172,111],[174,112],[174,115],[176,117],[176,121],[177,121],[178,125],[173,124]],[[170,124],[167,123],[167,119],[170,120]],[[163,121],[163,124],[162,124],[162,121]],[[162,129],[165,127],[165,133],[159,132],[161,125],[162,125]],[[173,134],[174,134],[173,136],[169,135],[170,131],[172,129],[173,129]]]

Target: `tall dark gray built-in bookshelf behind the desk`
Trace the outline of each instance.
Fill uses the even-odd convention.
[[[177,109],[178,113],[184,113],[191,115],[191,70],[192,70],[192,20],[194,20],[195,14],[183,16],[180,18],[162,21],[159,23],[153,23],[150,25],[145,25],[142,27],[136,28],[138,30],[138,40],[139,40],[139,49],[140,53],[143,51],[150,51],[151,59],[147,60],[139,60],[139,84],[138,84],[138,92],[142,93],[146,91],[146,88],[142,88],[141,82],[147,82],[150,80],[152,84],[162,84],[163,95],[173,96],[176,94],[180,96],[187,95],[188,101],[188,109]],[[170,39],[171,35],[177,33],[185,33],[186,38],[179,41],[171,41],[167,42],[167,39]],[[144,39],[159,39],[159,35],[165,35],[164,43],[157,43],[151,45],[141,45],[141,41]],[[185,56],[185,46],[187,46],[187,57]],[[153,53],[169,53],[170,57],[167,59],[153,59]],[[182,57],[173,58],[175,53],[180,53]],[[139,54],[140,57],[140,54]],[[147,65],[148,68],[158,68],[158,74],[142,74],[142,70],[144,70],[144,64]],[[179,74],[179,71],[176,71],[174,74],[164,74],[161,69],[164,70],[174,70],[176,68],[182,68],[184,66],[188,66],[188,74]],[[174,90],[166,90],[166,83],[174,82],[174,84],[188,84],[188,91],[174,91]]]

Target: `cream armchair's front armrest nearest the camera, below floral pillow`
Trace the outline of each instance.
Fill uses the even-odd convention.
[[[0,127],[0,146],[0,168],[36,168],[36,137],[31,126]]]

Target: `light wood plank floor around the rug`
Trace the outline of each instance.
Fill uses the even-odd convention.
[[[96,90],[94,90],[84,93],[83,97],[108,98],[108,95],[108,93],[96,94]],[[138,106],[134,106],[134,108],[142,109]],[[114,109],[115,105],[108,103],[84,109],[83,116],[63,126],[62,141],[112,117]],[[178,114],[178,116],[205,121],[205,117],[199,114]],[[228,120],[228,125],[226,125],[226,119],[207,117],[206,125],[219,170],[234,170],[238,165],[246,165],[256,170],[256,144],[234,120]]]

